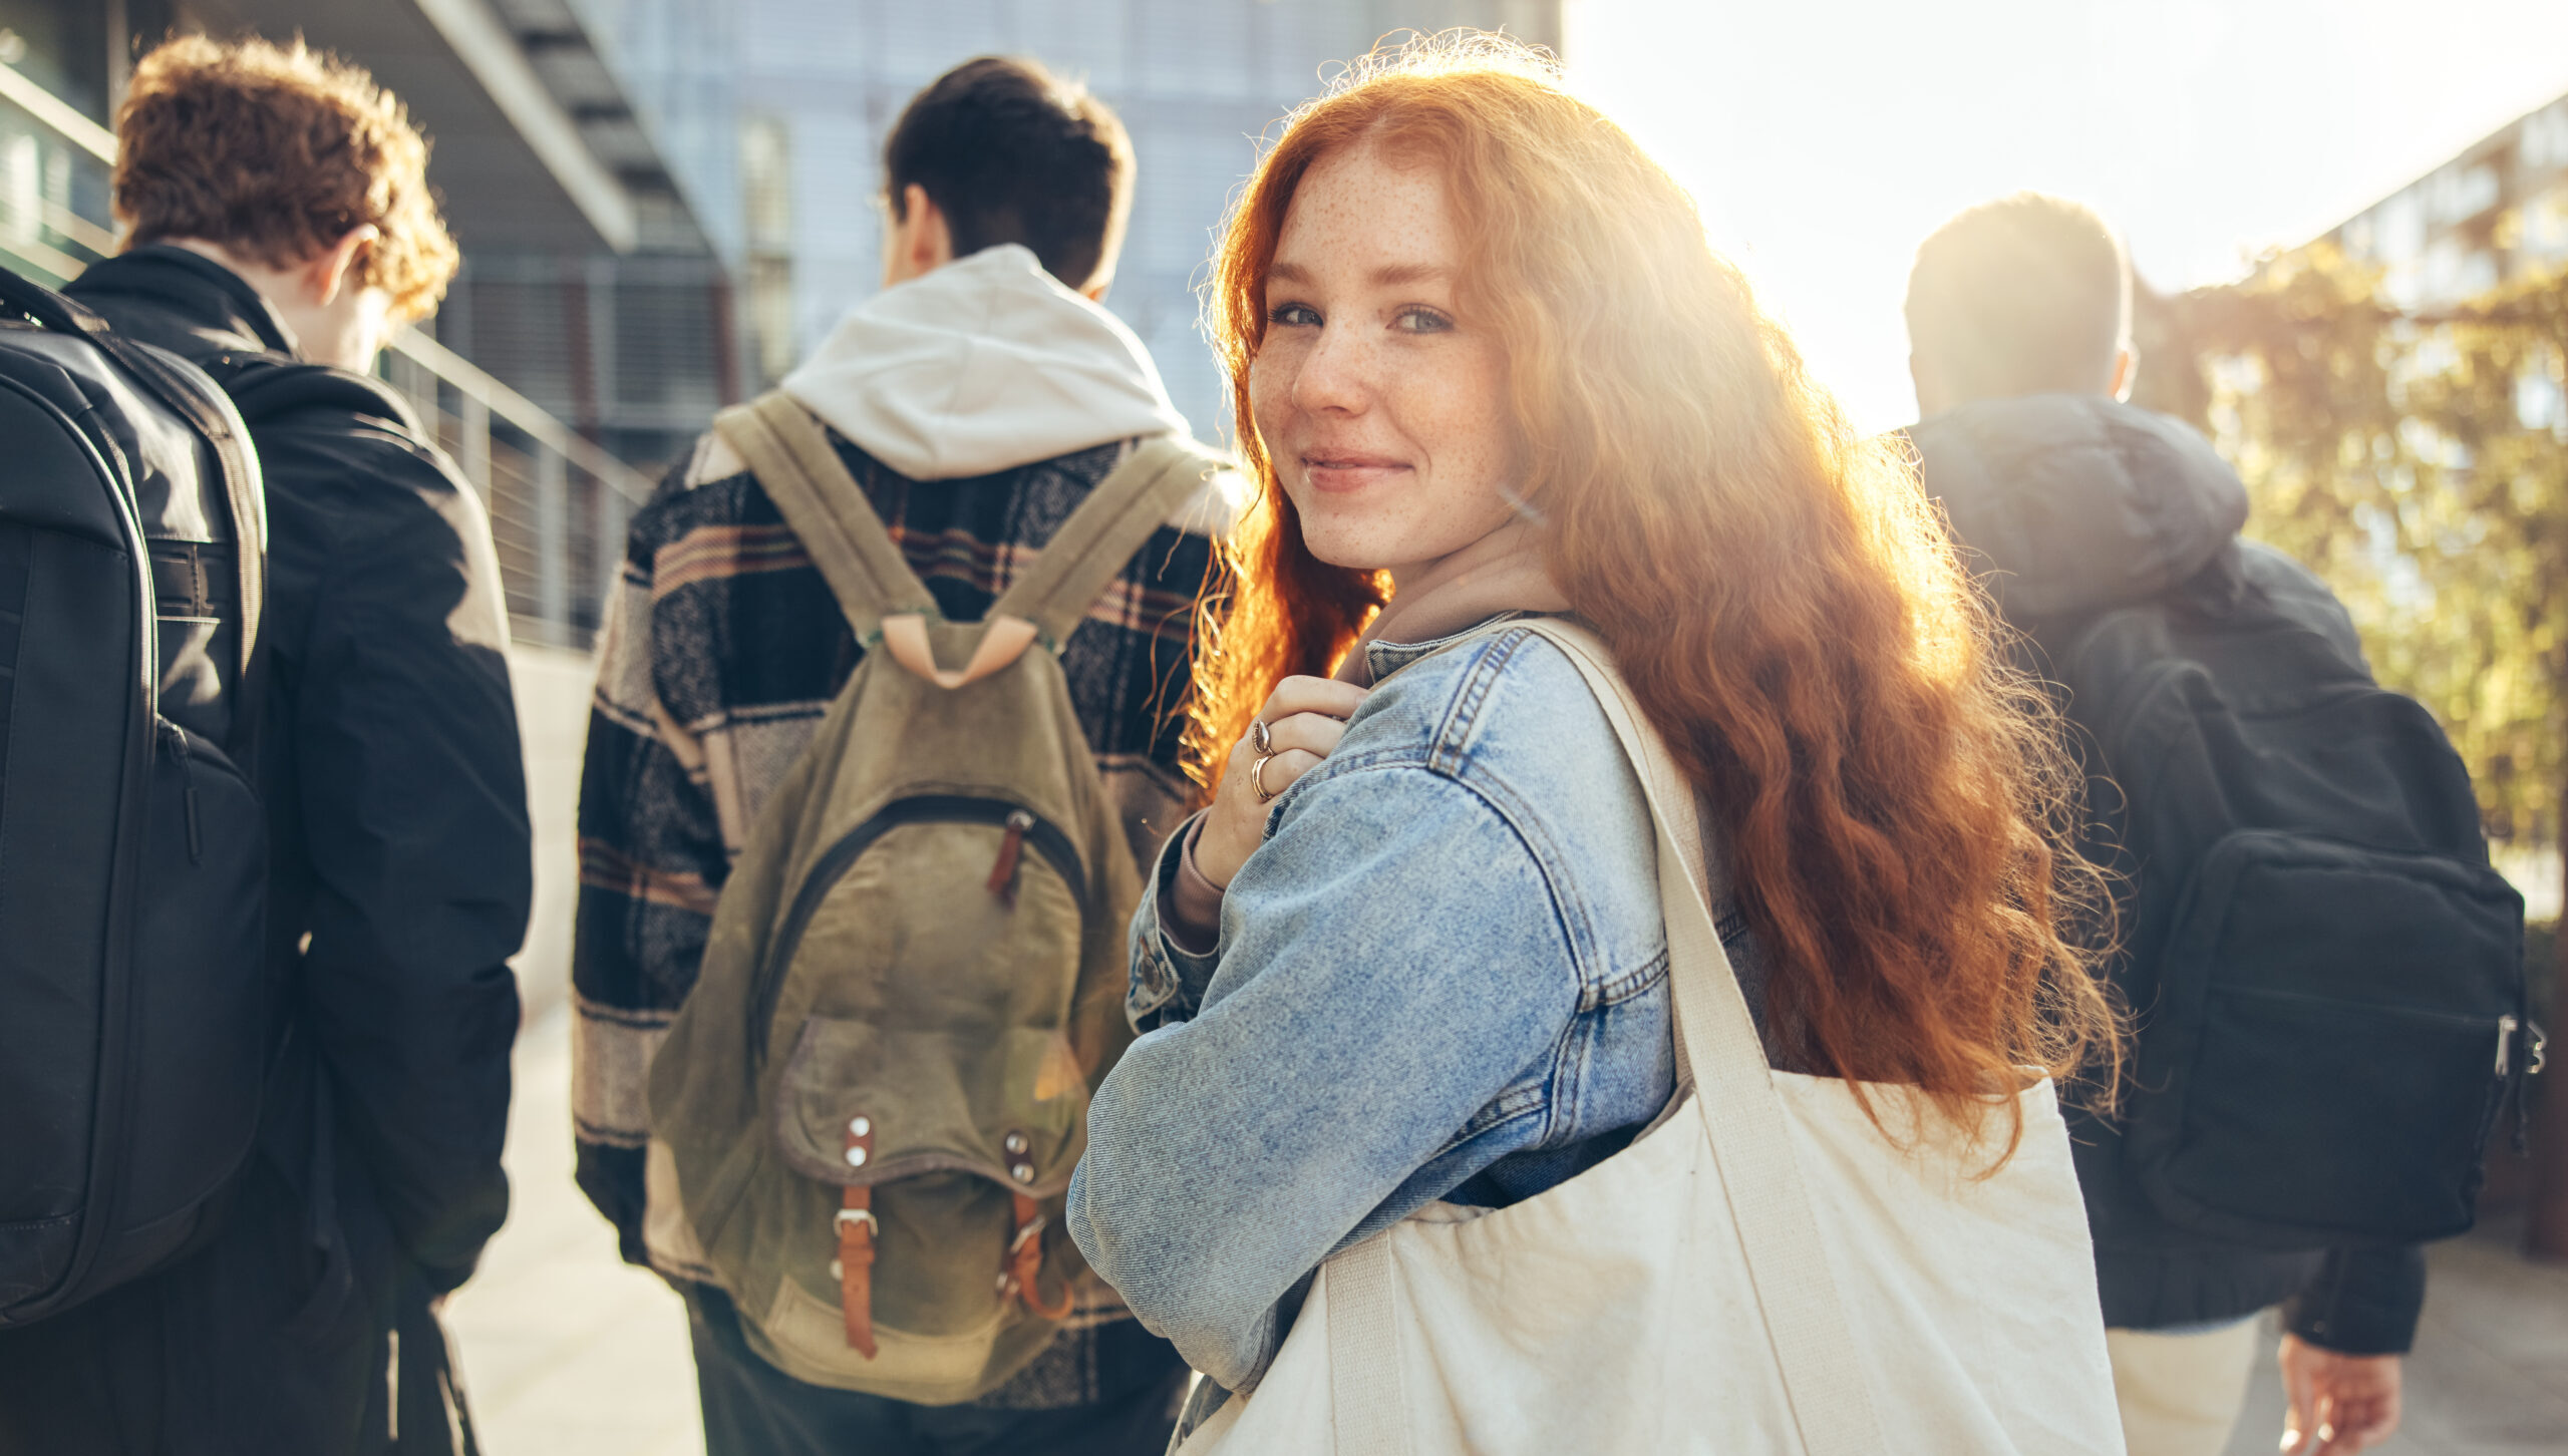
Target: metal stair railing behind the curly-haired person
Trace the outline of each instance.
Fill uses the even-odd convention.
[[[113,254],[113,167],[108,128],[0,64],[0,262],[69,282]],[[586,650],[652,483],[419,329],[385,347],[383,377],[480,493],[519,639]]]

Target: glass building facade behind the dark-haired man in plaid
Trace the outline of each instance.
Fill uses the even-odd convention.
[[[1194,285],[1258,139],[1394,31],[1559,49],[1561,0],[573,0],[729,264],[745,375],[773,383],[881,282],[881,152],[901,105],[978,54],[1079,77],[1140,182],[1107,306],[1204,437],[1228,403]]]

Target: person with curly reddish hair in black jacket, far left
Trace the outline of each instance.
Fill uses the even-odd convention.
[[[508,1209],[532,853],[490,526],[365,372],[455,275],[429,144],[362,69],[267,41],[159,46],[116,121],[126,249],[72,293],[223,380],[267,485],[280,994],[221,1217],[0,1333],[0,1451],[470,1448],[437,1302]]]

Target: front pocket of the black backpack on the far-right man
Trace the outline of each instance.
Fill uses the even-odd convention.
[[[2465,1233],[2522,1073],[2519,927],[2483,865],[2283,832],[2216,842],[2139,1007],[2124,1156],[2142,1192],[2250,1248]]]

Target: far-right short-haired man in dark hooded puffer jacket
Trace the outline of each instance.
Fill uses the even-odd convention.
[[[2247,488],[2193,426],[2124,403],[2131,270],[2088,208],[2018,193],[1970,208],[1908,280],[1926,493],[2039,663],[2044,624],[2142,601],[2255,591],[2363,660],[2345,606],[2298,562],[2239,539]],[[2147,793],[2147,783],[2126,783]],[[2216,1456],[2283,1304],[2286,1451],[2329,1456],[2399,1425],[2399,1356],[2424,1299],[2419,1251],[2273,1253],[2170,1227],[2121,1166],[2113,1122],[2083,1117],[2078,1174],[2095,1235],[2131,1456]]]

